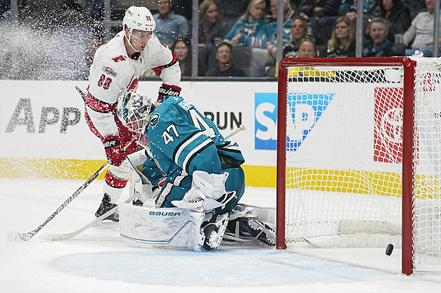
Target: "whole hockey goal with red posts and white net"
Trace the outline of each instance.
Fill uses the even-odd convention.
[[[441,270],[440,64],[282,60],[278,248],[393,243],[403,273]]]

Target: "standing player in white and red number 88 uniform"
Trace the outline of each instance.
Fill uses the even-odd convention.
[[[118,97],[137,89],[141,73],[153,68],[162,78],[158,100],[163,94],[178,96],[181,71],[176,55],[160,43],[155,34],[155,20],[145,7],[132,6],[125,12],[123,31],[95,53],[90,66],[85,101],[85,120],[91,131],[104,143],[111,166],[105,175],[104,197],[97,217],[116,206],[130,177],[127,154],[137,150],[137,143],[122,152],[123,145],[135,135],[116,115]],[[108,220],[118,221],[118,214]]]

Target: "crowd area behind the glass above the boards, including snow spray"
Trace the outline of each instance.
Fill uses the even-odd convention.
[[[358,2],[0,0],[0,78],[87,79],[94,52],[122,29],[130,6],[151,10],[155,33],[175,52],[183,79],[270,78],[278,56],[391,57],[415,50],[440,56],[433,52],[433,24],[440,18],[435,0],[367,0],[361,16]],[[277,22],[278,15],[283,20]],[[361,29],[356,29],[358,17]],[[278,31],[283,36],[278,38]],[[361,56],[357,31],[363,38]],[[144,77],[155,74],[146,71]]]

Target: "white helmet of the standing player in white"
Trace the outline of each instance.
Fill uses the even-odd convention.
[[[123,18],[123,29],[127,25],[130,34],[134,29],[140,31],[154,31],[156,27],[153,15],[145,7],[131,6],[125,11]]]

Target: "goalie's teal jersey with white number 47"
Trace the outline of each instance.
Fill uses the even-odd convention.
[[[221,173],[244,162],[237,143],[224,141],[216,124],[182,97],[168,97],[153,111],[146,136],[165,176],[181,169]]]

